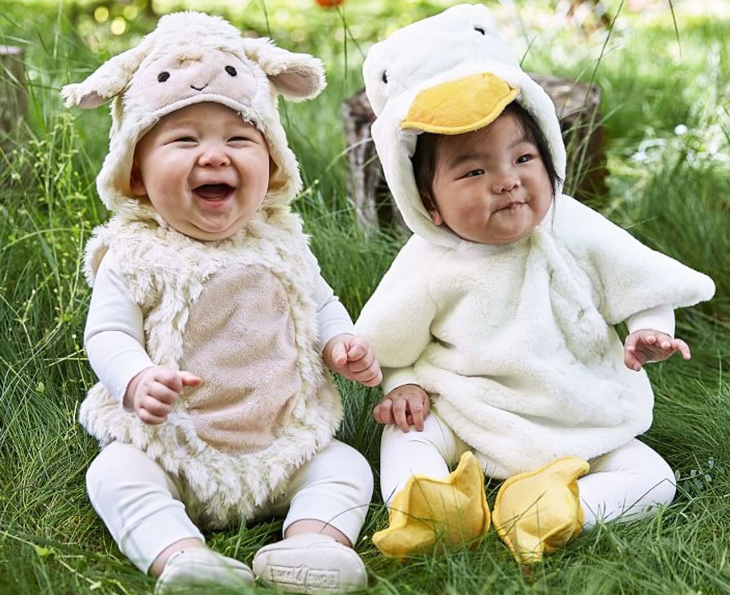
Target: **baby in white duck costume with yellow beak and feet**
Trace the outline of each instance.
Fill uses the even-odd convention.
[[[390,525],[374,543],[406,556],[492,520],[537,561],[597,520],[653,515],[675,480],[636,438],[653,409],[642,365],[688,359],[674,308],[710,299],[712,280],[562,194],[553,103],[485,7],[396,31],[363,72],[413,232],[356,322],[384,376]],[[482,472],[506,480],[492,515]]]

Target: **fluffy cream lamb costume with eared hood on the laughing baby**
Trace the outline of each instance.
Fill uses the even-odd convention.
[[[101,382],[82,403],[80,422],[105,447],[102,455],[119,444],[144,452],[172,478],[185,514],[203,528],[277,512],[272,507],[292,489],[293,477],[335,446],[345,447],[334,457],[348,461],[356,476],[343,483],[358,493],[332,523],[354,543],[367,512],[372,472],[358,452],[333,440],[342,404],[321,355],[329,338],[353,332],[352,322],[321,278],[301,219],[291,211],[301,178],[277,110],[279,96],[310,99],[324,86],[318,59],[244,38],[222,18],[180,12],[162,17],[139,45],[63,89],[69,106],[112,102],[110,151],[97,189],[113,216],[94,230],[85,253],[96,286],[85,339]],[[253,124],[271,161],[261,208],[222,240],[178,232],[130,189],[134,149],[145,132],[201,102],[222,104]],[[101,281],[126,300],[129,322],[110,328],[107,317],[93,314],[104,308]],[[108,338],[99,344],[99,331],[114,344]],[[159,425],[145,424],[121,403],[130,380],[150,365],[203,378],[185,387]],[[107,482],[102,475],[92,463],[92,501]],[[334,514],[328,509],[323,520]],[[114,522],[107,526],[120,547],[147,572],[161,550],[147,546],[155,531],[130,545],[128,531],[144,521],[116,531]],[[171,531],[175,523],[168,523]],[[190,537],[188,528],[202,538],[186,518],[177,524],[185,526],[179,538]],[[359,558],[355,564],[366,580]],[[309,579],[301,569],[294,574],[287,590],[306,591],[306,580],[315,580],[314,572]],[[317,580],[327,591],[326,573]],[[329,586],[345,588],[337,581]]]

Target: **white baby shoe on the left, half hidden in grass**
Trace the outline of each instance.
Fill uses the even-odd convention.
[[[155,595],[175,593],[190,587],[243,588],[253,585],[251,569],[207,547],[191,547],[170,556],[155,585]]]

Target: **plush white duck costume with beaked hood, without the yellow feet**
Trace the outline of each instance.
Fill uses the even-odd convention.
[[[433,223],[410,162],[418,134],[483,128],[513,100],[542,129],[564,178],[553,103],[520,69],[485,7],[462,4],[396,31],[369,50],[363,73],[377,153],[413,232],[356,322],[383,366],[383,392],[426,390],[436,414],[427,426],[455,434],[438,447],[442,456],[452,463],[474,450],[498,479],[564,457],[591,460],[645,432],[653,393],[645,371],[624,365],[613,325],[708,300],[710,278],[643,246],[561,194],[559,183],[548,215],[514,243],[473,243]],[[671,334],[673,318],[667,326],[652,327]],[[404,461],[403,441],[419,434],[385,428],[386,501],[412,470],[429,474]],[[419,461],[433,450],[423,448],[423,458],[413,451]],[[569,474],[586,470],[578,462]]]

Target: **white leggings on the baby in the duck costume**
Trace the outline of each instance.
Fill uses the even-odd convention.
[[[414,474],[444,478],[466,450],[472,450],[431,412],[422,432],[387,425],[380,444],[380,490],[390,502]],[[632,439],[588,461],[591,470],[578,480],[583,529],[598,520],[635,520],[655,514],[675,497],[675,475],[661,456]]]

